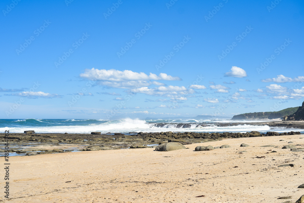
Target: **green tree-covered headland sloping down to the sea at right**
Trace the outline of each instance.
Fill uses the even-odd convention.
[[[235,115],[232,120],[258,120],[258,119],[282,119],[286,115],[295,113],[299,107],[285,108],[274,112],[254,112]]]

